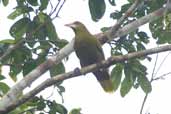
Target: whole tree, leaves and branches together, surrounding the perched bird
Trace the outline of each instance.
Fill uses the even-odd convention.
[[[171,50],[171,2],[170,0],[128,0],[120,10],[110,12],[110,19],[115,24],[101,28],[101,33],[94,36],[103,45],[110,46],[111,57],[100,64],[86,66],[77,72],[66,72],[65,63],[73,49],[73,42],[60,38],[53,21],[60,17],[59,12],[66,0],[16,0],[8,19],[14,21],[10,27],[11,38],[0,40],[0,69],[9,67],[8,75],[16,83],[13,87],[4,80],[0,72],[0,113],[1,114],[81,114],[80,108],[68,111],[55,100],[36,96],[43,89],[54,86],[61,99],[65,92],[62,83],[66,79],[78,77],[103,67],[111,67],[111,78],[115,91],[125,97],[131,89],[141,88],[148,94],[152,91],[152,82],[161,77],[154,74],[147,77],[148,66],[144,60],[151,61],[149,55]],[[117,6],[115,0],[86,0],[92,21],[98,23],[108,7]],[[1,0],[1,7],[11,3]],[[72,13],[72,12],[68,12]],[[140,30],[149,25],[149,33]],[[65,32],[65,31],[64,31]],[[155,40],[159,47],[147,48],[150,40]],[[37,85],[28,93],[23,93],[42,74],[49,71],[51,78]],[[22,79],[18,80],[21,75]],[[165,75],[164,75],[165,76]],[[143,110],[143,108],[142,108]],[[141,110],[141,114],[142,114]]]

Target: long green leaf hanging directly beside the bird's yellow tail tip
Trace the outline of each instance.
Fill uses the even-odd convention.
[[[121,78],[122,78],[122,64],[116,64],[116,66],[112,69],[111,72],[111,79],[114,86],[114,91],[116,91],[120,85]]]

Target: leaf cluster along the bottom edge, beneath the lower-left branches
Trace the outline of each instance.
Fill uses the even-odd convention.
[[[28,108],[29,107],[29,108]],[[32,114],[35,112],[39,112],[39,114],[67,114],[67,109],[61,105],[58,104],[55,100],[47,100],[44,99],[42,96],[40,97],[33,97],[29,102],[23,104],[22,106],[19,107],[20,110],[24,111],[12,111],[10,114],[16,114],[16,113],[27,113],[27,114]],[[49,109],[49,110],[47,110]]]

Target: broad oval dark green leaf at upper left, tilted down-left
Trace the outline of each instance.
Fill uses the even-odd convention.
[[[30,22],[30,19],[25,17],[14,23],[10,28],[11,36],[13,36],[17,41],[20,40],[26,33]]]

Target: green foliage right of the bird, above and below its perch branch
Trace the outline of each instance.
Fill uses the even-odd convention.
[[[134,1],[130,0],[129,3],[122,5],[121,10],[112,12],[110,18],[114,20],[120,19],[133,2]],[[158,3],[156,3],[156,1],[155,3],[154,1],[142,2],[138,9],[130,15],[129,18],[124,20],[123,25],[121,26],[127,25],[128,23],[147,15],[146,12],[151,13],[154,10],[161,8],[163,4],[164,1],[158,1]],[[170,14],[166,14],[165,17],[161,17],[160,19],[149,24],[150,31],[154,39],[157,39],[156,41],[158,44],[170,43],[170,23]],[[102,31],[105,32],[109,29],[110,27],[104,27],[102,28]],[[120,37],[118,40],[111,41],[109,44],[111,47],[111,55],[124,55],[130,52],[145,50],[148,43],[149,37],[147,33],[137,29],[132,33]],[[115,90],[121,86],[120,93],[122,97],[128,94],[132,87],[135,89],[141,87],[145,93],[151,92],[151,83],[146,77],[147,68],[140,62],[145,59],[149,61],[151,60],[151,58],[147,56],[136,60],[128,60],[123,63],[118,63],[113,68],[111,72],[113,84]],[[123,74],[125,77],[121,80]]]

